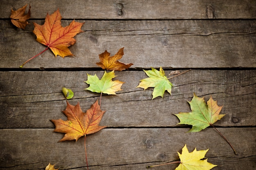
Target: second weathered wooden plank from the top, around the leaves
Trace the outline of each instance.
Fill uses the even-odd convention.
[[[46,47],[28,30],[13,29],[9,21],[0,31],[0,68],[18,68]],[[43,21],[40,21],[43,23]],[[84,21],[80,21],[84,22]],[[67,21],[63,25],[67,25]],[[124,63],[131,68],[253,68],[256,67],[256,24],[249,21],[86,21],[85,32],[70,47],[76,57],[54,57],[47,50],[25,68],[95,68],[99,54],[114,55],[124,47]]]

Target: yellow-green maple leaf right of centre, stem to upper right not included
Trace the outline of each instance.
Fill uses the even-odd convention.
[[[141,82],[136,87],[147,89],[148,87],[155,87],[153,90],[153,98],[158,96],[163,97],[164,92],[167,90],[168,93],[171,94],[171,88],[173,84],[168,80],[168,78],[164,74],[164,70],[160,67],[160,70],[156,70],[155,68],[151,68],[152,70],[143,70],[147,75],[148,78],[144,78],[140,80]]]

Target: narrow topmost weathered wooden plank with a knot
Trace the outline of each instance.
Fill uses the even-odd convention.
[[[26,0],[0,2],[1,18],[9,18],[11,8]],[[60,9],[63,18],[74,19],[255,19],[254,0],[31,0],[31,18],[44,18]]]

